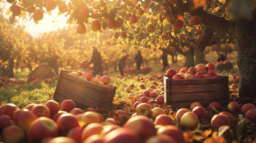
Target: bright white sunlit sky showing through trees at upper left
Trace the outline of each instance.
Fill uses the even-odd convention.
[[[5,0],[2,0],[0,7],[4,7],[4,14],[8,10],[8,8],[11,6],[11,4],[7,3]],[[56,7],[51,15],[44,13],[44,18],[39,21],[39,24],[35,24],[32,20],[22,20],[22,18],[18,19],[16,17],[16,20],[18,20],[18,23],[22,23],[25,26],[25,30],[29,32],[32,36],[39,36],[44,32],[50,32],[53,30],[57,30],[60,28],[63,28],[64,26],[69,26],[70,24],[66,24],[67,18],[65,17],[65,14],[58,15],[58,7]],[[57,16],[58,15],[58,16]],[[5,15],[5,18],[9,18],[10,15]],[[29,19],[29,18],[28,18]]]

